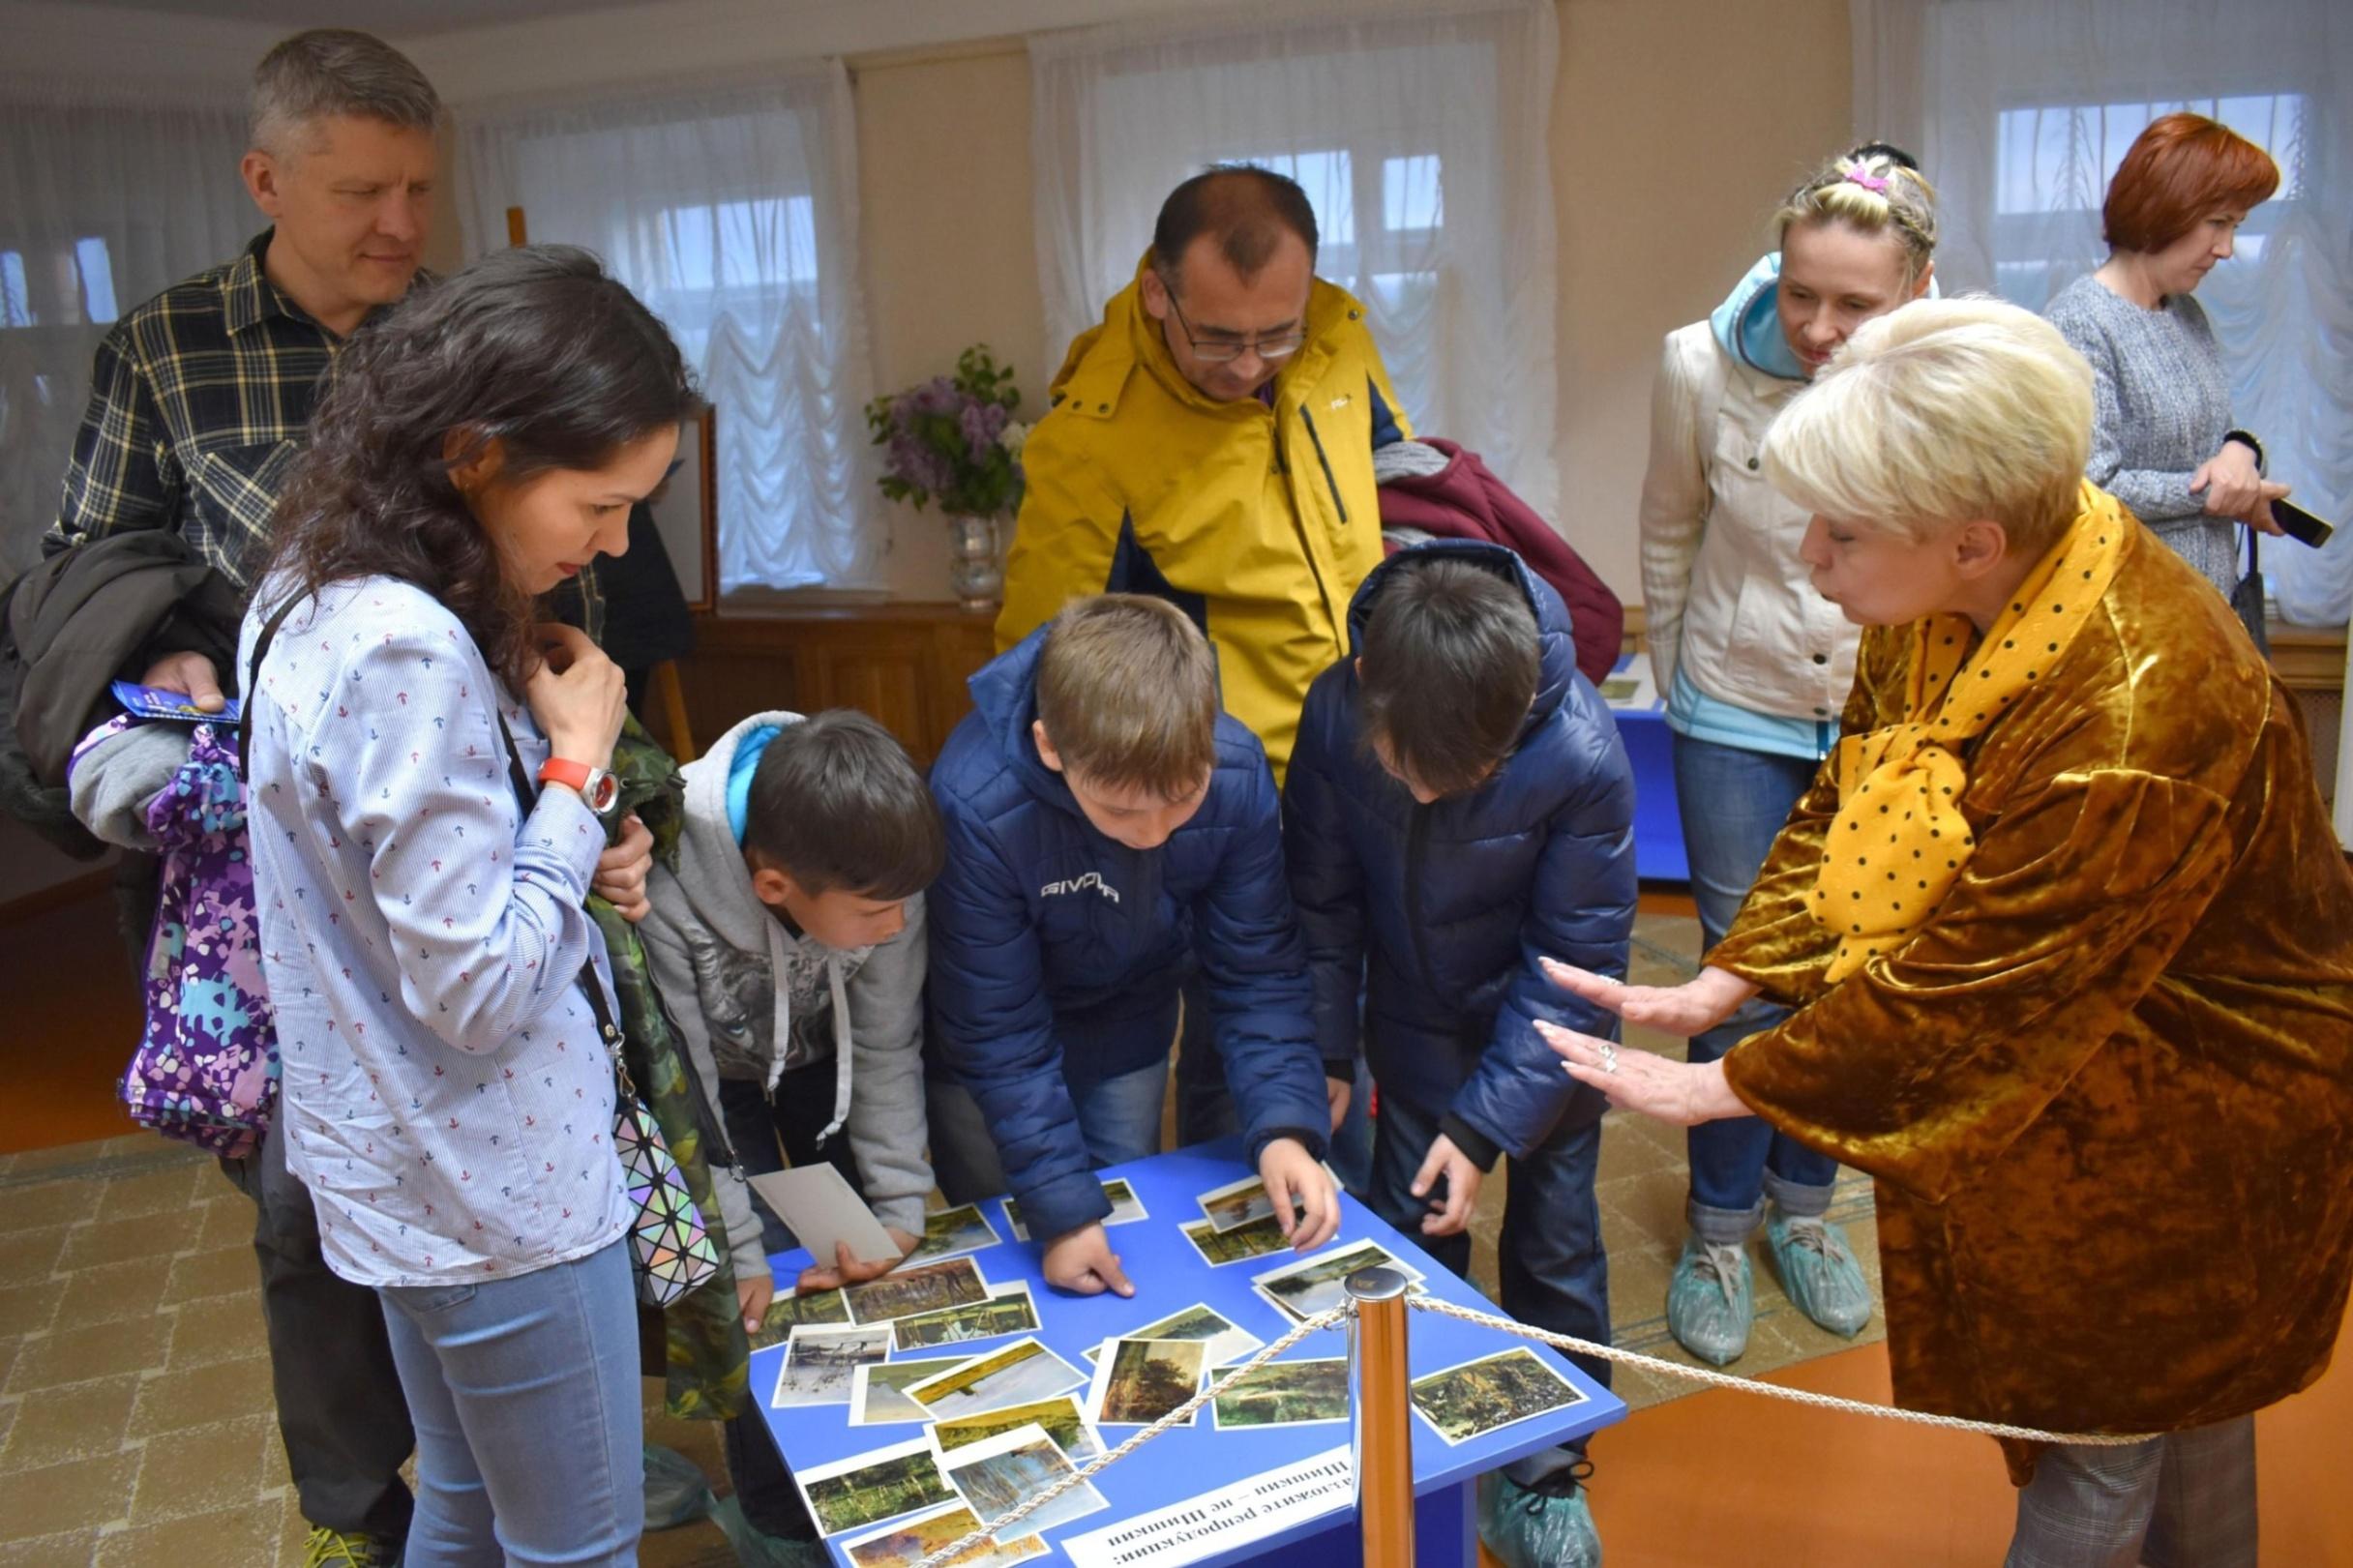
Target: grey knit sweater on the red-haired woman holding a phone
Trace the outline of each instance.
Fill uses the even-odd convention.
[[[2245,534],[2191,494],[2191,475],[2231,430],[2231,378],[2205,310],[2188,294],[2146,310],[2087,273],[2042,315],[2092,362],[2085,477],[2228,597],[2245,576]]]

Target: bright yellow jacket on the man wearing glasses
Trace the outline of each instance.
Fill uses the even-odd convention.
[[[1381,564],[1372,451],[1412,430],[1346,289],[1315,280],[1266,407],[1186,381],[1139,282],[1071,343],[1021,454],[998,651],[1073,597],[1160,595],[1217,644],[1226,712],[1280,780],[1308,682],[1348,651],[1348,599]]]

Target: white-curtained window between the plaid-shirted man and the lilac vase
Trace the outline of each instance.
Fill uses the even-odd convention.
[[[522,207],[668,324],[715,409],[720,590],[873,588],[871,367],[840,66],[466,115],[475,247]]]

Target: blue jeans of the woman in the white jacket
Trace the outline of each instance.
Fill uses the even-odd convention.
[[[1812,788],[1817,764],[1737,745],[1675,736],[1675,802],[1682,809],[1682,849],[1692,858],[1692,903],[1699,905],[1701,950],[1725,940],[1758,867]],[[1713,1063],[1732,1046],[1788,1018],[1788,1009],[1755,999],[1706,1034],[1692,1037],[1692,1060]],[[1689,1222],[1701,1241],[1739,1244],[1765,1218],[1765,1194],[1791,1215],[1831,1206],[1838,1161],[1777,1133],[1755,1117],[1701,1121],[1685,1133],[1692,1161]]]

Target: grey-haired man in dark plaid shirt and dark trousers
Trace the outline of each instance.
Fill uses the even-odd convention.
[[[320,378],[353,331],[424,282],[438,127],[433,85],[365,33],[296,33],[261,59],[242,174],[273,226],[106,334],[45,552],[169,529],[249,588]],[[588,571],[569,595],[558,614],[595,635],[602,604]],[[200,654],[165,658],[146,684],[207,708],[221,696],[221,672]],[[598,891],[633,858],[647,856],[607,851]],[[280,1138],[224,1168],[259,1208],[278,1425],[313,1526],[308,1561],[395,1563],[414,1512],[400,1479],[414,1434],[384,1307],[327,1272]]]

